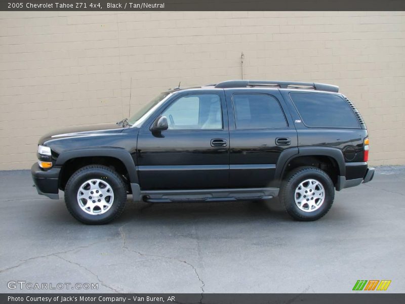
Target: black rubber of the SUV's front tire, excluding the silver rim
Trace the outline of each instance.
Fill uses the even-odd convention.
[[[77,192],[79,187],[87,180],[93,178],[105,180],[112,187],[112,191],[114,192],[112,206],[103,214],[88,214],[80,208],[77,202]],[[89,166],[78,170],[70,177],[65,189],[65,203],[70,213],[77,220],[88,224],[107,223],[114,219],[117,214],[121,212],[126,199],[127,191],[120,177],[110,170],[98,166]]]

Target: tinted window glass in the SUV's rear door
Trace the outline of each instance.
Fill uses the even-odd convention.
[[[236,129],[287,127],[277,99],[267,94],[234,94],[233,109]]]

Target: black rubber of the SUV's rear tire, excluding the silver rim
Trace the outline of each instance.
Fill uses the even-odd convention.
[[[325,201],[315,211],[305,212],[298,208],[295,203],[295,189],[306,179],[315,179],[319,181],[325,189]],[[288,180],[283,189],[282,201],[287,212],[295,219],[299,220],[316,220],[325,215],[331,208],[335,198],[334,185],[330,177],[323,171],[316,168],[305,168],[298,171]]]

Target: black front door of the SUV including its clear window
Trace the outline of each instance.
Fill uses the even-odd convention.
[[[209,189],[229,185],[229,133],[223,90],[177,92],[158,116],[168,130],[138,136],[138,172],[143,190]]]

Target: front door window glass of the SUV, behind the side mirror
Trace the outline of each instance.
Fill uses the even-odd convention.
[[[168,130],[222,129],[221,100],[217,94],[180,97],[161,115],[168,119]]]

